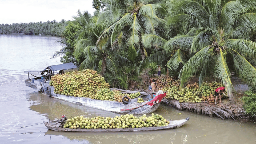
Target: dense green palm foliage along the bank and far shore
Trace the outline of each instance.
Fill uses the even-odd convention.
[[[255,0],[94,0],[94,15],[78,11],[61,31],[63,49],[54,56],[80,69],[100,71],[113,87],[128,89],[131,79],[160,65],[179,75],[209,76],[226,86],[234,103],[231,72],[256,86]],[[31,23],[32,25],[33,23]],[[1,33],[43,33],[60,23],[1,25]]]

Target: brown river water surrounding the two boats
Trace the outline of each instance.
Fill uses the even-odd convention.
[[[0,143],[256,143],[255,123],[212,118],[163,104],[155,113],[166,119],[190,117],[190,120],[178,129],[147,132],[68,133],[48,130],[42,121],[57,120],[61,115],[120,115],[49,98],[25,85],[27,73],[24,71],[43,70],[49,65],[61,64],[60,58],[51,58],[62,48],[56,42],[58,39],[51,36],[0,35]]]

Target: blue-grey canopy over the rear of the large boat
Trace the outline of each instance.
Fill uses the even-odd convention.
[[[67,70],[67,69],[75,69],[78,68],[75,66],[72,62],[70,63],[63,63],[60,65],[52,65],[52,66],[47,66],[44,70],[32,70],[32,71],[24,71],[24,73],[42,73],[46,71],[57,71],[57,70]]]

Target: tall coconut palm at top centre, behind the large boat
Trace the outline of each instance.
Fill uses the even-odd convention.
[[[107,10],[99,15],[97,23],[106,19],[110,25],[103,31],[96,45],[111,46],[113,52],[127,49],[139,50],[142,59],[147,51],[142,44],[142,35],[156,34],[156,28],[163,21],[159,0],[111,0]],[[146,71],[147,77],[149,78]]]

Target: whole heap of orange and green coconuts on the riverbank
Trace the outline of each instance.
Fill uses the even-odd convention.
[[[193,84],[188,83],[184,88],[180,88],[179,80],[177,77],[169,78],[154,78],[156,80],[155,86],[158,90],[166,91],[166,99],[176,99],[179,102],[192,102],[200,103],[202,101],[215,102],[215,90],[218,87],[222,87],[217,82],[203,82],[201,86],[195,82]],[[153,78],[150,79],[150,83],[153,82]],[[157,90],[157,91],[158,91]],[[225,93],[227,95],[227,93]],[[227,98],[222,94],[222,98]]]

